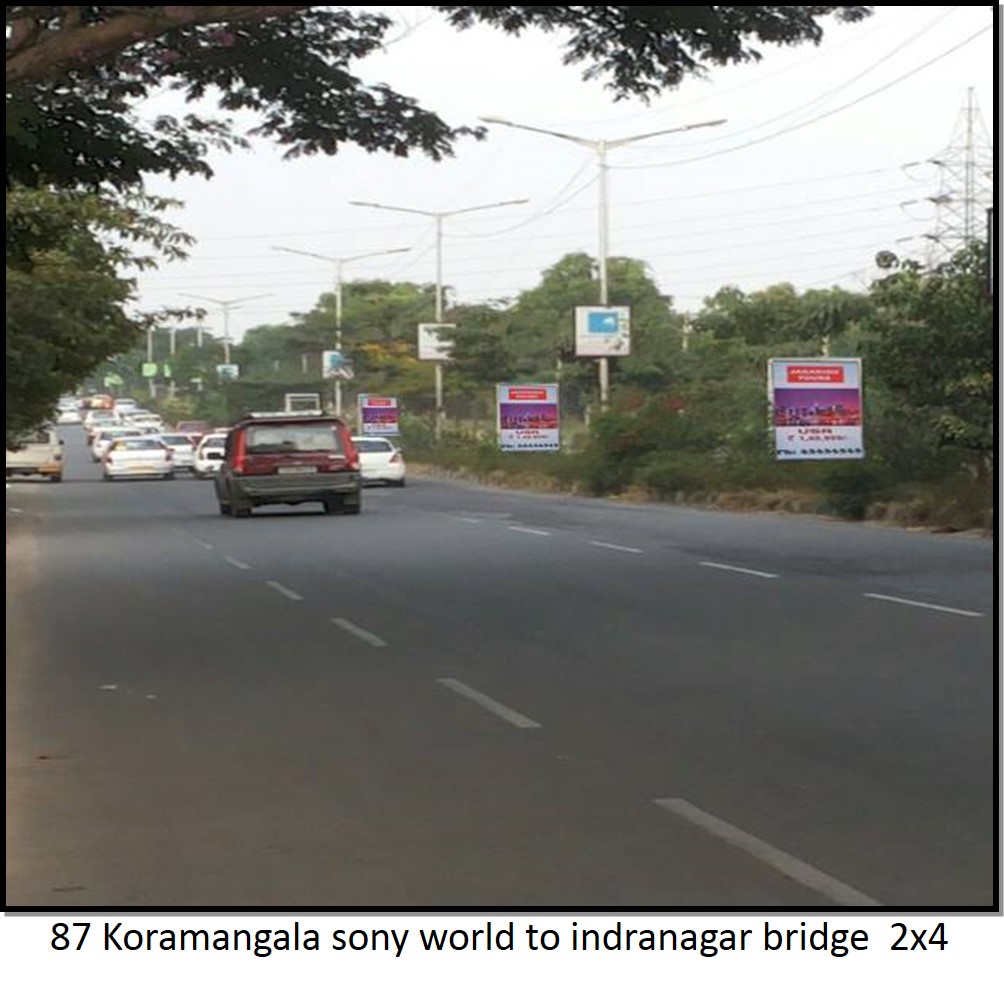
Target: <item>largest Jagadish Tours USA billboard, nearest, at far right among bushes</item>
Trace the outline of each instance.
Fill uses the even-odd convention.
[[[767,376],[777,459],[864,458],[860,359],[771,359]]]

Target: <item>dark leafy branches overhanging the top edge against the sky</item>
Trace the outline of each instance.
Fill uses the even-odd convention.
[[[820,21],[870,7],[434,8],[460,30],[483,23],[509,34],[560,32],[564,61],[583,64],[615,97],[647,98],[708,64],[760,57],[757,44],[817,43]],[[7,180],[135,184],[144,174],[210,173],[213,146],[235,147],[229,115],[163,115],[134,106],[167,88],[219,110],[251,110],[251,134],[291,156],[345,144],[439,160],[480,137],[357,65],[387,41],[384,14],[353,7],[13,5],[7,12]]]

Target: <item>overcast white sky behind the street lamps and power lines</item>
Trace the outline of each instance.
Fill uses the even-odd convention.
[[[610,255],[646,261],[678,310],[697,310],[725,284],[860,288],[876,273],[878,250],[923,255],[925,234],[939,222],[958,224],[929,201],[947,173],[928,162],[944,159],[970,87],[986,124],[984,148],[991,140],[989,6],[880,6],[858,24],[827,20],[819,47],[765,48],[759,64],[712,68],[648,106],[614,102],[599,83],[582,81],[581,67],[561,64],[553,36],[457,33],[428,8],[374,9],[410,29],[357,73],[454,125],[495,115],[615,141],[725,117],[608,155]],[[214,159],[211,182],[152,183],[186,203],[173,219],[198,245],[188,261],[145,274],[140,301],[267,294],[234,308],[239,338],[309,310],[333,282],[333,264],[273,246],[332,257],[412,248],[346,264],[346,292],[355,278],[435,280],[432,219],[349,200],[447,212],[526,198],[444,224],[451,300],[511,298],[564,254],[596,255],[596,162],[587,148],[504,127],[492,127],[486,142],[462,142],[440,164],[354,148],[283,161],[259,144]],[[989,186],[986,170],[977,178]],[[221,331],[219,311],[207,307],[208,327]]]

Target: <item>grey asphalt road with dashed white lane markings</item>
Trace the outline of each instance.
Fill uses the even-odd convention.
[[[8,906],[986,907],[993,543],[8,484]]]

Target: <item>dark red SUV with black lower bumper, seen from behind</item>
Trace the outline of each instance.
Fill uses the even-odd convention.
[[[320,503],[325,513],[358,513],[359,457],[345,424],[324,415],[261,414],[227,436],[214,476],[220,513],[249,517],[268,503]]]

